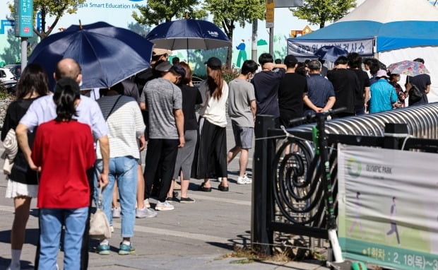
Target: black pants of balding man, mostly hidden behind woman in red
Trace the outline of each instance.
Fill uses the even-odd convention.
[[[94,180],[93,180],[93,172],[94,168],[87,170],[88,182],[90,183],[90,207],[88,207],[88,217],[85,222],[85,230],[83,231],[82,236],[82,247],[81,247],[81,270],[88,269],[88,242],[90,240],[90,235],[88,232],[90,231],[90,214],[91,214],[91,204],[93,201],[93,190],[94,190]],[[38,211],[38,216],[40,215],[40,211]],[[38,264],[40,263],[40,218],[38,218],[38,242],[37,242],[37,252],[35,254],[35,270],[38,269]],[[63,241],[63,237],[61,237],[61,241]],[[62,246],[62,245],[61,245]]]

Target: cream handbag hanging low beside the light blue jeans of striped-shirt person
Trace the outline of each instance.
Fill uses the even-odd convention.
[[[102,209],[102,187],[99,189],[96,212],[90,216],[90,231],[88,234],[91,238],[98,240],[111,238],[108,218]]]

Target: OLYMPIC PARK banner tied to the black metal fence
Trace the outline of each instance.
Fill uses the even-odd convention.
[[[438,154],[338,145],[338,237],[348,259],[438,270]]]

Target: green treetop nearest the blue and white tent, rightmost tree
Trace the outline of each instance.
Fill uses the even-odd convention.
[[[290,8],[290,11],[294,16],[324,28],[327,21],[339,20],[355,6],[355,0],[304,0],[304,6]]]

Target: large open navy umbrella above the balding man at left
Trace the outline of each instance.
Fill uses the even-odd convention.
[[[71,25],[66,30],[49,35],[35,47],[29,63],[42,65],[49,75],[57,62],[73,58],[81,65],[81,89],[108,88],[150,66],[153,44],[131,30],[108,23]]]

